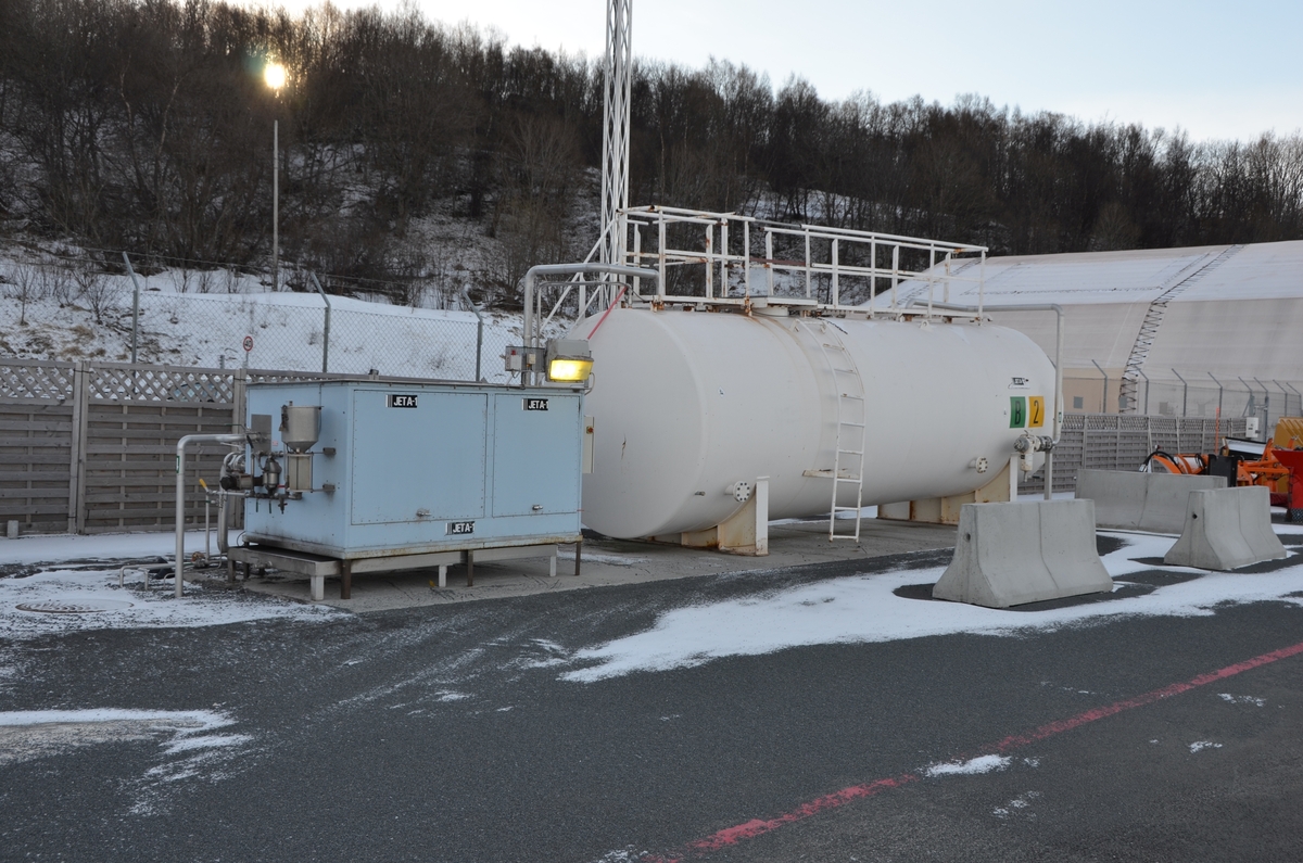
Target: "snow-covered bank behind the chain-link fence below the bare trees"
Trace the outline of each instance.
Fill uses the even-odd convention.
[[[132,283],[103,275],[99,314],[68,289],[13,296],[14,263],[0,261],[0,357],[42,360],[130,358]],[[199,278],[203,276],[203,284]],[[317,293],[271,293],[253,276],[163,270],[141,276],[138,356],[143,362],[319,372],[326,304]],[[472,379],[477,318],[472,310],[426,309],[332,296],[330,370]],[[483,312],[481,377],[507,381],[503,348],[517,344],[519,315]],[[558,329],[559,327],[554,327]],[[242,342],[253,336],[253,351]],[[555,335],[555,334],[551,334]]]

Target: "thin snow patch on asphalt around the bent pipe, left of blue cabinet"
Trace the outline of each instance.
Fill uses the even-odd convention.
[[[65,537],[66,538],[66,537]],[[128,574],[128,579],[130,579]],[[138,630],[147,627],[205,627],[265,619],[326,621],[343,617],[327,606],[301,605],[274,597],[205,589],[186,584],[177,600],[171,583],[141,589],[128,580],[119,587],[119,570],[48,570],[26,578],[0,578],[0,637],[30,639],[83,630]],[[35,602],[109,604],[115,607],[89,614],[46,614],[17,606]],[[129,604],[128,607],[121,607]]]

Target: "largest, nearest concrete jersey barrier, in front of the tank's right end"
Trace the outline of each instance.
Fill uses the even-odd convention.
[[[1113,589],[1095,549],[1091,501],[967,503],[938,600],[992,609]]]

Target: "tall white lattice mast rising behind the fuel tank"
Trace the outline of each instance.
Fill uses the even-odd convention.
[[[629,206],[629,93],[633,83],[633,0],[606,0],[606,98],[602,110],[602,263],[624,263]]]

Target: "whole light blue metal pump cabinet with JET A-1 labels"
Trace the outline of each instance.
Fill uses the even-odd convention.
[[[271,418],[270,450],[283,471],[292,459],[285,405],[319,405],[321,430],[302,447],[310,482],[298,478],[298,490],[283,490],[280,501],[245,499],[246,541],[258,548],[377,571],[403,568],[377,558],[442,563],[455,559],[447,553],[466,561],[466,551],[581,540],[580,390],[370,379],[249,385],[246,422],[257,430]],[[255,476],[265,460],[246,451]],[[283,473],[283,485],[289,478]],[[364,570],[345,566],[345,578],[349,571]],[[319,572],[337,568],[310,571]]]

